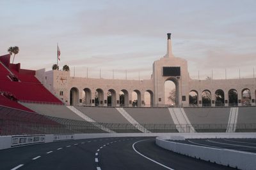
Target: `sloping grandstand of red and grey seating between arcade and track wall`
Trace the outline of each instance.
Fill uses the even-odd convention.
[[[65,106],[37,80],[35,71],[20,69],[20,64],[10,64],[10,55],[0,57],[0,81],[1,135],[256,131],[255,107]]]

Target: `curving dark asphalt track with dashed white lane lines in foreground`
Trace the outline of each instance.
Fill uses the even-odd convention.
[[[132,147],[133,146],[133,147]],[[70,140],[0,150],[0,169],[232,169],[164,150],[155,138]]]

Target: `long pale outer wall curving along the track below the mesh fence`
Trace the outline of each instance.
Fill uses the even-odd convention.
[[[12,148],[14,146],[34,145],[34,141],[40,137],[40,143],[49,143],[54,141],[63,141],[70,139],[90,139],[90,138],[111,138],[111,137],[156,137],[164,136],[163,139],[184,139],[184,138],[256,138],[256,133],[103,133],[103,134],[38,134],[38,135],[16,135],[0,136],[0,150]],[[13,141],[13,137],[19,137]],[[44,138],[42,138],[44,137]],[[22,141],[20,141],[22,138]],[[24,138],[27,138],[26,141]],[[33,138],[33,141],[31,141]],[[35,139],[34,139],[35,138]],[[29,139],[29,141],[28,141]],[[44,140],[43,140],[44,139]],[[14,143],[15,142],[15,143]]]

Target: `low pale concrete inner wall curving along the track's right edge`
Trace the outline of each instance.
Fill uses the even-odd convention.
[[[256,167],[256,153],[175,143],[173,141],[166,141],[168,138],[169,136],[157,137],[156,145],[172,152],[195,157],[197,159],[200,158],[210,162],[216,162],[216,164],[221,164],[223,166],[245,170],[255,169]]]

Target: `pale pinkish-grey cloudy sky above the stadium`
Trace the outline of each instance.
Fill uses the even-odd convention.
[[[256,64],[256,1],[0,1],[0,55],[19,46],[15,63],[51,70],[60,46],[60,67],[92,78],[149,79],[166,53],[188,60],[191,78],[253,76]],[[256,68],[255,68],[256,71]]]

